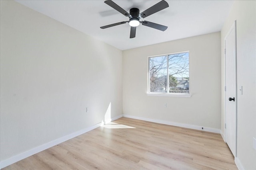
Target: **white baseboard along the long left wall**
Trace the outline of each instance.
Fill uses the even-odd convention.
[[[123,115],[114,117],[114,118],[109,119],[109,120],[107,120],[107,121],[114,121],[114,120],[119,119],[119,118],[121,118],[121,117],[123,117]],[[66,135],[66,136],[61,137],[61,138],[59,138],[59,139],[56,139],[56,140],[54,140],[54,141],[50,141],[50,142],[48,142],[48,143],[46,143],[46,144],[40,145],[39,147],[35,147],[35,148],[33,148],[33,149],[27,150],[27,151],[25,151],[25,152],[23,152],[23,153],[21,153],[21,154],[12,156],[11,158],[8,158],[8,159],[6,159],[6,160],[2,160],[2,161],[0,162],[0,169],[4,168],[4,167],[6,167],[6,166],[9,166],[9,165],[11,165],[11,164],[14,164],[15,162],[18,162],[18,161],[20,161],[20,160],[22,160],[22,159],[24,159],[24,158],[27,158],[28,156],[31,156],[31,155],[33,155],[33,154],[36,154],[36,153],[41,152],[41,151],[43,151],[43,150],[46,150],[46,149],[48,149],[48,148],[50,148],[50,147],[53,147],[53,146],[55,146],[55,145],[58,145],[58,144],[60,144],[60,143],[62,143],[62,142],[65,142],[65,141],[67,141],[67,140],[69,140],[69,139],[72,139],[72,138],[74,138],[74,137],[77,137],[77,136],[79,136],[79,135],[82,135],[83,133],[86,133],[86,132],[88,132],[88,131],[91,131],[91,130],[93,130],[93,129],[96,129],[97,127],[100,127],[101,124],[102,124],[102,123],[98,123],[98,124],[93,125],[93,126],[91,126],[91,127],[87,127],[87,128],[82,129],[82,130],[80,130],[80,131],[74,132],[74,133],[72,133],[72,134],[70,134],[70,135]]]

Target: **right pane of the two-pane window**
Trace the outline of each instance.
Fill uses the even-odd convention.
[[[189,93],[188,58],[188,52],[168,55],[170,93]]]

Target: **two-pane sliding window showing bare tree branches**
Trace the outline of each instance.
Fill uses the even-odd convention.
[[[148,60],[149,93],[189,94],[189,52]]]

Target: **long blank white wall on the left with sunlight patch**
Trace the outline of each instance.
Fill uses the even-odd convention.
[[[1,161],[100,123],[110,102],[122,115],[122,51],[0,3]]]

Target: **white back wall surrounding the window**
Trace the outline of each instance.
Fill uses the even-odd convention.
[[[183,51],[192,96],[148,96],[148,57]],[[220,129],[220,104],[220,32],[123,51],[125,115]]]

